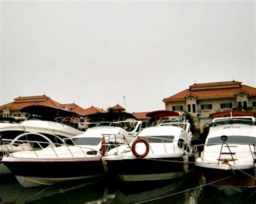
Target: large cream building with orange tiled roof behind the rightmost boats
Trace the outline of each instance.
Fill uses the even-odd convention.
[[[210,122],[209,114],[227,110],[256,112],[256,88],[238,81],[194,83],[189,89],[163,100],[165,110],[187,111],[198,128]]]

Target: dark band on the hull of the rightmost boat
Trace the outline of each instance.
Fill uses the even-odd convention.
[[[213,185],[234,185],[234,186],[256,185],[256,180],[253,178],[255,177],[253,169],[242,170],[241,172],[239,170],[232,171],[232,170],[219,170],[219,169],[213,169],[213,168],[199,167],[199,172],[200,174],[204,175],[207,183],[220,180],[218,182],[214,182]],[[249,175],[246,175],[246,173]],[[230,177],[230,178],[227,178],[227,177]]]

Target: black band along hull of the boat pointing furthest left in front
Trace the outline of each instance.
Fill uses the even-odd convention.
[[[3,161],[14,173],[23,177],[70,178],[104,174],[102,160],[95,161]]]

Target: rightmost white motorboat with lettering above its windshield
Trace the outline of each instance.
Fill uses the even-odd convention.
[[[207,183],[232,194],[256,185],[256,126],[254,116],[242,116],[242,111],[228,115],[213,119],[204,150],[196,153],[196,166]]]

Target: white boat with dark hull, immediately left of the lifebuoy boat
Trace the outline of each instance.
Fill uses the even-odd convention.
[[[60,147],[9,153],[2,162],[24,187],[103,177],[106,170],[102,156],[134,138],[140,124],[130,132],[116,124],[95,126]]]

